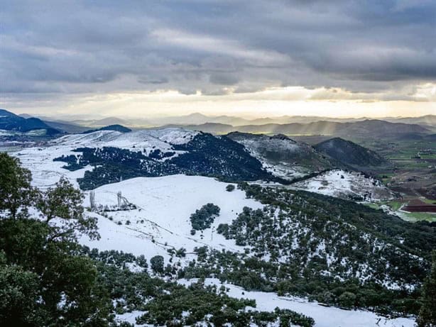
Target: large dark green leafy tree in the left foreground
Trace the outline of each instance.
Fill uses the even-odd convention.
[[[107,326],[111,301],[97,283],[97,269],[79,255],[78,235],[98,237],[86,218],[82,194],[65,179],[45,192],[33,189],[18,160],[0,155],[0,325]],[[18,184],[9,185],[17,182]],[[39,210],[40,217],[28,214]]]

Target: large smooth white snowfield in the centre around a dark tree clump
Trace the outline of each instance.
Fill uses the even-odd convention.
[[[226,240],[217,234],[216,228],[219,223],[230,223],[244,206],[258,209],[263,205],[253,199],[246,199],[245,193],[239,189],[227,192],[227,185],[210,177],[180,174],[138,177],[104,185],[94,190],[97,206],[116,205],[116,193],[121,191],[123,198],[135,204],[137,209],[109,211],[107,214],[112,217],[112,221],[91,213],[98,218],[102,238],[89,240],[84,237],[80,242],[89,248],[123,250],[134,255],[144,255],[148,259],[154,255],[169,258],[167,250],[170,248],[185,248],[187,253],[192,253],[195,247],[205,245],[219,250],[242,252],[243,247],[235,245],[234,240]],[[190,215],[207,203],[219,206],[220,214],[211,228],[207,228],[204,233],[197,231],[191,235]],[[89,192],[85,206],[89,206]],[[119,221],[121,225],[118,224]],[[130,224],[126,225],[126,221],[130,221]],[[190,255],[187,256],[189,258]],[[193,256],[190,259],[192,258]]]

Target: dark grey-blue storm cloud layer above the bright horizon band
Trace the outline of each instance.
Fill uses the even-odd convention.
[[[226,87],[296,85],[375,92],[436,80],[435,1],[0,1],[0,7],[0,91],[8,94],[224,94]]]

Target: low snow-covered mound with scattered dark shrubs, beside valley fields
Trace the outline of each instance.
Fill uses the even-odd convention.
[[[365,177],[360,172],[330,170],[316,177],[291,185],[293,189],[337,196],[343,199],[386,200],[393,198],[392,192],[380,181]]]

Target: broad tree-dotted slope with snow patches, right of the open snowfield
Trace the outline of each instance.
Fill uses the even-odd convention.
[[[197,261],[180,275],[218,277],[327,305],[418,314],[435,226],[307,192],[239,187],[266,206],[244,208],[217,232],[245,246],[245,253],[198,248]]]

